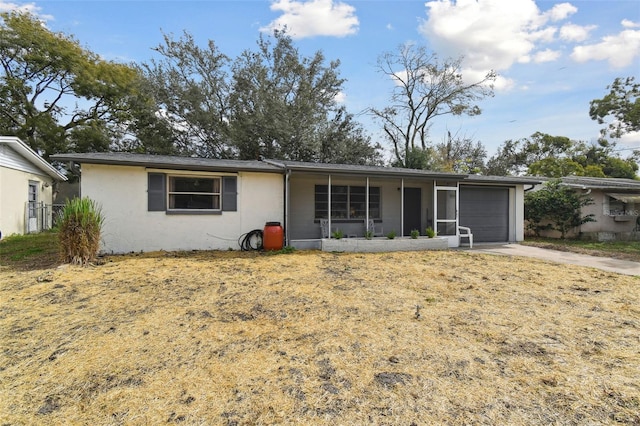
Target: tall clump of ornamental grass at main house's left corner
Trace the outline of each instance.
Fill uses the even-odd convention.
[[[100,250],[102,208],[90,198],[74,198],[64,206],[59,221],[60,253],[65,263],[87,265]]]

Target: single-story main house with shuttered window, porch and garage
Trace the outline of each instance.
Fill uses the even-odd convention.
[[[320,248],[323,225],[346,237],[425,234],[459,244],[524,238],[524,191],[535,178],[435,173],[294,161],[131,153],[58,154],[81,166],[81,195],[105,215],[103,251],[238,249],[242,235],[280,222],[285,244]]]

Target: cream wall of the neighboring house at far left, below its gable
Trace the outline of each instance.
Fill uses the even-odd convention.
[[[38,182],[38,200],[51,204],[53,180],[46,175],[0,167],[0,232],[2,237],[26,232],[29,181]],[[46,184],[46,185],[45,185]]]

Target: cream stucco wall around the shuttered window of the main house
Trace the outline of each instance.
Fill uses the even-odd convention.
[[[160,170],[82,165],[81,195],[97,201],[105,216],[103,252],[239,249],[238,238],[242,234],[263,229],[266,222],[284,222],[282,175],[238,173],[238,210],[235,212],[168,215],[147,211],[147,173],[150,171]]]

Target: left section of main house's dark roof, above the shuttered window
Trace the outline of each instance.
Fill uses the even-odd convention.
[[[120,166],[142,166],[158,169],[196,171],[256,171],[282,173],[271,164],[262,161],[217,160],[210,158],[178,157],[170,155],[134,154],[128,152],[93,152],[56,154],[56,161],[73,161],[80,164],[109,164]]]

